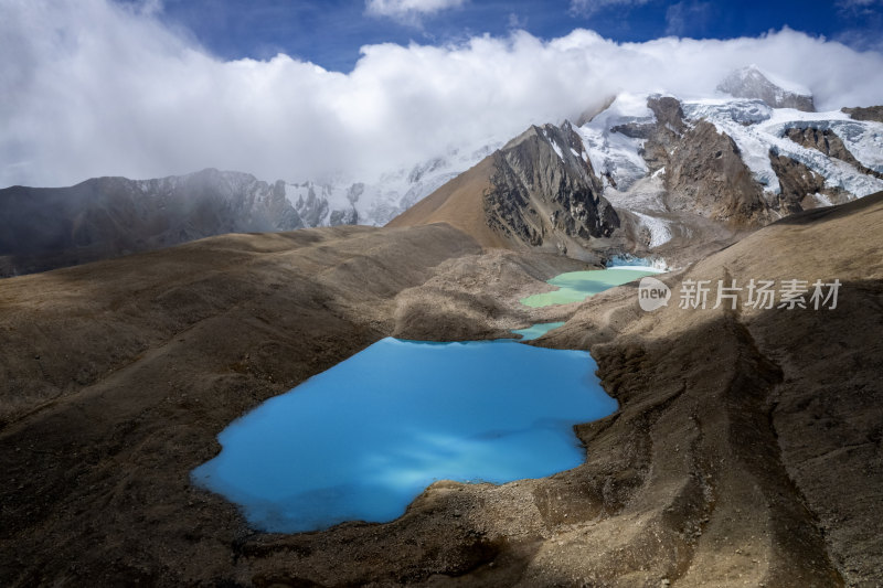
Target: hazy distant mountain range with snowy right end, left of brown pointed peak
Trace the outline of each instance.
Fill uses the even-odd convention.
[[[224,233],[383,225],[491,150],[449,152],[373,183],[266,182],[206,169],[0,190],[0,276],[43,271]]]

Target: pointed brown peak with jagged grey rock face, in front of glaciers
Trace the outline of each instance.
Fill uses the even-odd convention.
[[[531,127],[387,226],[448,223],[486,247],[596,259],[619,217],[568,122]]]

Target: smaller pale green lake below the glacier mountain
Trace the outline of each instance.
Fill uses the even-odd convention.
[[[660,270],[645,266],[609,267],[607,269],[592,269],[588,271],[568,271],[560,274],[547,281],[558,289],[553,292],[522,298],[520,302],[525,307],[539,308],[552,304],[567,304],[582,302],[589,296],[603,292],[614,286],[620,286],[645,276],[659,274]]]

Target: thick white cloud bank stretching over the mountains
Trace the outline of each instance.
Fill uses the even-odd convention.
[[[790,30],[615,43],[577,30],[362,49],[352,72],[223,61],[107,0],[0,0],[0,186],[206,167],[371,181],[449,147],[575,119],[617,92],[712,94],[756,63],[821,109],[883,104],[883,55]]]

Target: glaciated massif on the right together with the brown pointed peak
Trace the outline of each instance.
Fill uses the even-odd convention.
[[[531,127],[390,226],[447,222],[485,246],[678,263],[883,190],[873,108],[815,113],[756,67],[719,89],[728,97],[620,95],[579,127]]]

